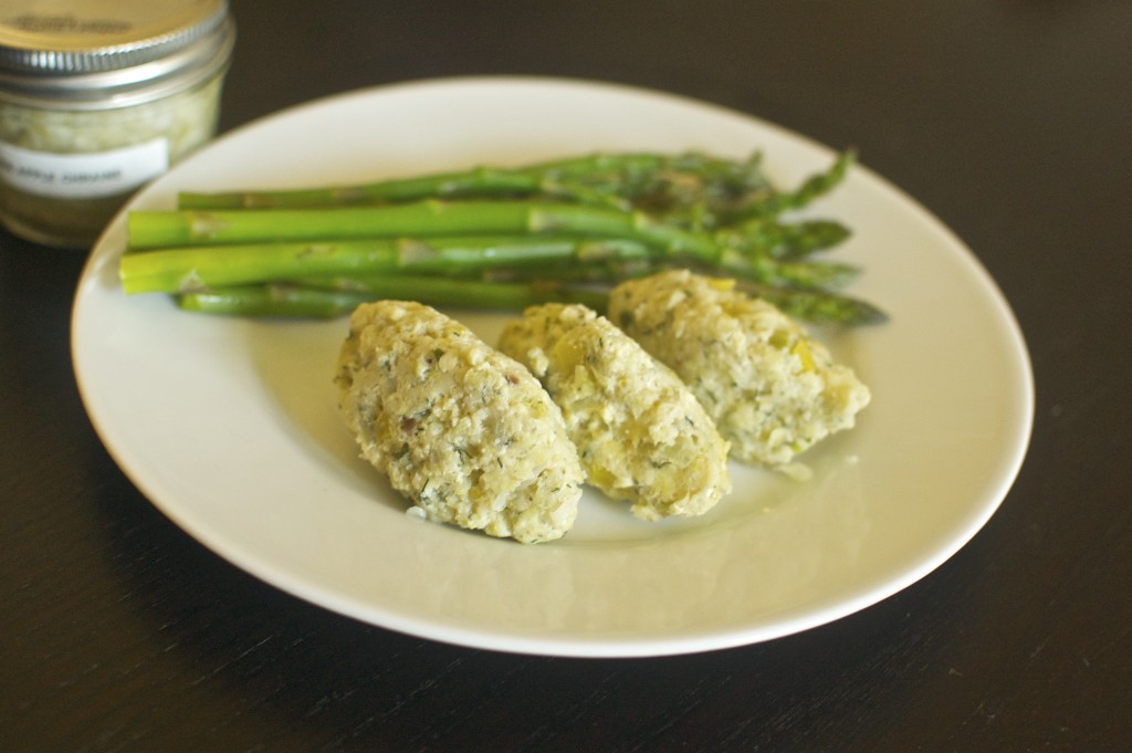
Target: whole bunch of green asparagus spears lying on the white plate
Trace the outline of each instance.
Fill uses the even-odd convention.
[[[131,212],[121,281],[190,310],[336,316],[397,296],[478,308],[601,308],[627,277],[674,267],[736,279],[818,322],[883,320],[834,292],[859,269],[817,258],[849,230],[799,220],[855,161],[779,190],[761,155],[591,154],[355,186],[191,194]]]

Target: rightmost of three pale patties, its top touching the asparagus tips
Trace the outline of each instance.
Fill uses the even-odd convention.
[[[615,288],[608,315],[684,379],[734,457],[782,467],[852,427],[869,390],[801,325],[734,285],[663,272]]]

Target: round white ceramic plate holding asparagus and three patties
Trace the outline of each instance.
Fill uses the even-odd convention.
[[[590,151],[761,149],[783,185],[833,152],[751,117],[620,86],[445,79],[361,91],[237,130],[144,190],[349,182]],[[864,155],[867,160],[867,155]],[[358,619],[457,644],[629,657],[754,643],[837,619],[966,544],[1029,439],[1026,346],[1003,297],[937,220],[865,168],[812,213],[855,230],[852,292],[890,324],[827,339],[874,393],[808,453],[814,478],[734,468],[693,521],[598,495],[574,531],[523,546],[427,523],[358,460],[331,375],[345,320],[211,318],[117,282],[120,216],[74,310],[78,384],[102,440],[164,514],[237,566]],[[452,311],[489,341],[501,318]]]

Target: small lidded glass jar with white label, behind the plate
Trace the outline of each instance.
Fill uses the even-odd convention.
[[[215,135],[234,40],[226,0],[5,0],[0,222],[89,248]]]

